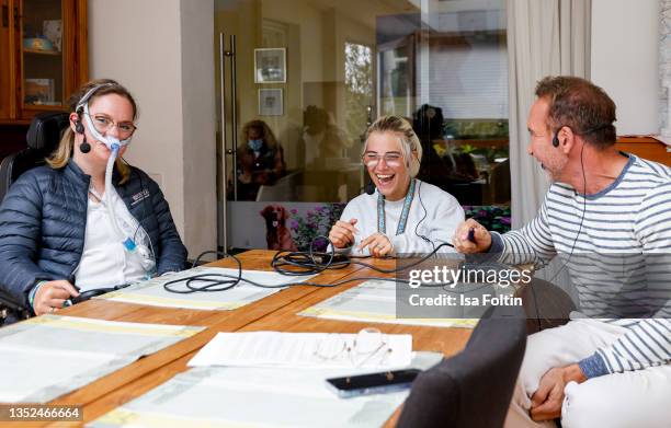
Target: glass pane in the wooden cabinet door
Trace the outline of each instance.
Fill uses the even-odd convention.
[[[62,12],[59,0],[23,1],[23,102],[64,104]]]

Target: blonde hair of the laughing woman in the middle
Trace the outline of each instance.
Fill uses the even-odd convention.
[[[373,123],[366,130],[366,142],[364,153],[368,149],[368,137],[373,132],[393,132],[399,137],[400,152],[406,158],[408,172],[411,177],[419,173],[422,162],[422,144],[412,130],[412,125],[401,116],[382,116]],[[414,155],[413,155],[414,154]]]

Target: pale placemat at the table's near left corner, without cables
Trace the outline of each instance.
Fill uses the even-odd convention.
[[[0,329],[0,402],[46,403],[203,327],[43,315]]]

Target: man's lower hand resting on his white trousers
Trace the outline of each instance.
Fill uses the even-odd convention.
[[[582,383],[587,380],[578,365],[556,367],[541,378],[538,389],[532,395],[531,415],[536,421],[555,419],[561,416],[564,389],[567,383]]]

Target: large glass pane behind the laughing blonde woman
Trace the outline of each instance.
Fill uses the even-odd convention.
[[[420,180],[490,229],[505,227],[504,0],[215,0],[214,9],[229,246],[307,250],[327,233],[368,182],[365,131],[388,114],[422,141]],[[236,36],[235,82],[219,33],[225,50]]]

